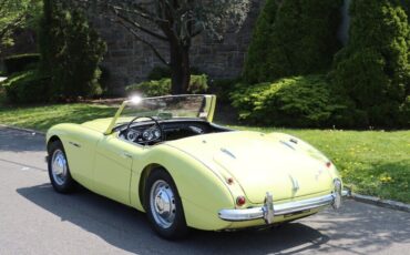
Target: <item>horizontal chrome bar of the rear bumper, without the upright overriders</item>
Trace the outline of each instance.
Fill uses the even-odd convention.
[[[275,217],[275,216],[296,213],[300,211],[319,208],[322,206],[331,205],[334,201],[335,201],[335,194],[328,194],[328,195],[303,200],[303,201],[288,202],[288,203],[277,204],[277,205],[274,204],[273,214]],[[222,210],[219,211],[218,215],[219,215],[219,218],[224,221],[228,221],[228,222],[243,222],[243,221],[265,218],[266,212],[271,212],[271,208],[269,210],[267,206],[270,206],[270,205],[253,207],[253,208],[245,208],[245,210]]]

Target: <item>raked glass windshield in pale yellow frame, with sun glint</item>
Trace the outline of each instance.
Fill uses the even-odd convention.
[[[136,116],[161,120],[201,118],[211,122],[215,101],[215,95],[166,95],[145,99],[135,96],[121,105],[106,133],[111,133],[115,125],[127,123]]]

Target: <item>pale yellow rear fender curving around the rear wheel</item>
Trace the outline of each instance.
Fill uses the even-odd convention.
[[[230,188],[217,176],[216,170],[209,170],[201,161],[171,146],[161,149],[162,156],[157,153],[142,159],[145,164],[141,162],[144,166],[140,171],[134,169],[136,182],[132,182],[134,184],[131,185],[135,186],[130,190],[133,207],[146,211],[144,191],[147,176],[152,171],[162,169],[175,183],[188,226],[208,231],[227,228],[230,223],[218,218],[218,211],[232,208],[235,204]],[[134,195],[136,193],[139,195]]]

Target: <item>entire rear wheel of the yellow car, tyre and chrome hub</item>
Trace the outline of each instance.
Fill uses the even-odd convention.
[[[154,170],[146,180],[144,195],[146,214],[155,232],[167,239],[185,237],[188,227],[171,175],[164,170]]]

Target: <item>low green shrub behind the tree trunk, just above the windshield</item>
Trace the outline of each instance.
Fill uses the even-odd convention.
[[[204,93],[208,89],[207,76],[191,75],[188,92],[193,94]],[[160,96],[171,93],[171,79],[164,78],[156,81],[144,81],[137,84],[132,84],[125,89],[129,94],[139,93],[144,96]]]

